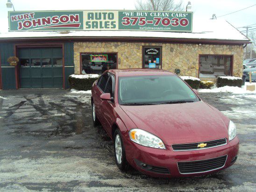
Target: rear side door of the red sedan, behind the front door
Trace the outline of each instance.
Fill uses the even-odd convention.
[[[93,94],[95,95],[93,97],[93,101],[94,101],[94,105],[95,105],[95,113],[104,128],[105,128],[105,124],[106,124],[106,122],[105,122],[106,119],[102,115],[103,100],[100,99],[100,95],[103,94],[105,91],[108,78],[109,78],[109,76],[107,74],[103,74],[99,79],[99,83],[97,83],[97,88],[93,90]]]

